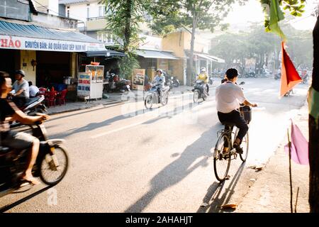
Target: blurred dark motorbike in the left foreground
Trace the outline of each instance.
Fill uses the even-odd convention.
[[[40,177],[47,185],[61,182],[67,173],[69,157],[62,139],[48,139],[44,123],[28,125],[40,140],[38,157],[33,165],[33,177]],[[30,149],[13,150],[0,145],[0,197],[10,194],[29,183],[22,179]]]

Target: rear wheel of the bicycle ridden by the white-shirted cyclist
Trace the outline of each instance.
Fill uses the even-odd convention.
[[[227,154],[223,154],[225,141],[227,141],[229,148],[231,148],[230,138],[228,137],[227,134],[223,133],[222,135],[220,135],[220,137],[217,140],[214,154],[213,154],[214,172],[215,172],[216,179],[218,179],[218,181],[220,182],[223,182],[225,178],[227,177],[227,174],[230,168],[230,161],[231,161],[230,149],[228,150]]]

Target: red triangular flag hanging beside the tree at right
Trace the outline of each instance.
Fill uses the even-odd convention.
[[[289,92],[293,87],[296,86],[296,84],[299,84],[302,79],[293,66],[293,62],[291,62],[290,57],[285,50],[284,42],[281,42],[281,52],[282,60],[280,96],[284,96],[284,94]]]

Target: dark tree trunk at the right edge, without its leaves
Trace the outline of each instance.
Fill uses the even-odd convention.
[[[319,17],[313,29],[313,89],[319,91]],[[309,204],[311,213],[319,213],[319,128],[309,116]]]

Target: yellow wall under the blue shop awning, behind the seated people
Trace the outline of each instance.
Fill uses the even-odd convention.
[[[37,67],[35,66],[33,68],[31,65],[32,60],[37,60],[35,50],[20,50],[20,69],[18,70],[23,70],[26,73],[26,77],[24,79],[35,84]]]

